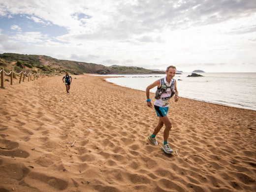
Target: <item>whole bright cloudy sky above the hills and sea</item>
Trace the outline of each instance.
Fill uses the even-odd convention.
[[[256,72],[256,0],[0,0],[0,53]]]

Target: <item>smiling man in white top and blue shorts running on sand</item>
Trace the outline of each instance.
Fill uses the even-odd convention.
[[[167,153],[171,154],[173,153],[173,150],[168,145],[168,137],[169,137],[169,131],[172,128],[170,119],[168,118],[168,106],[169,106],[169,99],[174,96],[175,102],[179,100],[179,93],[176,86],[176,80],[173,79],[173,77],[176,74],[176,67],[175,66],[168,66],[166,68],[166,77],[163,77],[156,82],[149,85],[146,89],[146,95],[147,95],[147,105],[149,107],[152,107],[151,100],[149,98],[149,91],[158,86],[158,89],[156,91],[156,101],[154,104],[155,110],[157,112],[157,116],[159,117],[159,122],[157,127],[155,128],[154,132],[148,136],[148,139],[154,144],[158,145],[158,142],[156,140],[156,135],[160,131],[160,129],[163,127],[163,124],[165,125],[165,129],[163,131],[163,145],[161,146],[161,149]]]

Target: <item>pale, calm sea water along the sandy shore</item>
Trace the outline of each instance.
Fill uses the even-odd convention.
[[[210,103],[256,110],[256,73],[197,73],[203,77],[187,77],[191,73],[176,74],[179,96]],[[107,81],[120,86],[145,91],[147,86],[164,75],[108,75],[122,76]],[[157,88],[151,90],[156,92]],[[146,99],[146,96],[145,96]]]

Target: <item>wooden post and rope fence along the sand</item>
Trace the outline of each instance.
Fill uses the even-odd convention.
[[[13,83],[13,74],[17,74],[17,75],[19,75],[20,74],[20,81],[19,81],[19,83],[21,83],[21,81],[23,81],[24,82],[24,80],[25,80],[25,77],[26,77],[26,75],[28,75],[28,81],[30,81],[30,80],[32,80],[32,76],[33,76],[33,80],[37,80],[38,78],[46,78],[46,76],[48,76],[48,78],[49,77],[53,77],[54,76],[54,74],[53,73],[50,73],[50,74],[45,74],[45,73],[31,73],[31,72],[29,72],[29,73],[27,73],[26,71],[21,71],[21,72],[19,72],[19,73],[16,73],[16,72],[14,72],[13,70],[11,70],[9,73],[6,73],[5,71],[4,71],[4,68],[3,67],[1,67],[1,70],[0,70],[0,74],[1,74],[1,88],[4,88],[3,87],[3,83],[4,83],[4,76],[10,76],[10,84],[12,85],[12,83]],[[23,77],[23,78],[22,78]]]

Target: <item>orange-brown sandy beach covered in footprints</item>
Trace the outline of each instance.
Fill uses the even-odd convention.
[[[62,77],[0,89],[0,192],[256,191],[256,111],[171,99],[167,155],[145,92]]]

